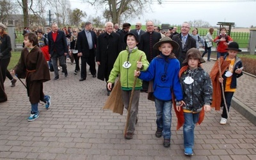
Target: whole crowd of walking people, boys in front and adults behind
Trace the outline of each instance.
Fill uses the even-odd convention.
[[[70,60],[70,64],[76,64],[73,65],[73,74],[80,72],[79,81],[86,80],[87,64],[93,78],[106,81],[108,96],[115,95],[111,91],[115,87],[116,77],[120,78],[124,108],[128,110],[131,107],[125,133],[127,140],[133,138],[138,123],[140,93],[147,92],[156,105],[155,135],[157,138],[163,136],[164,147],[170,147],[171,111],[174,106],[178,117],[177,129],[183,125],[184,154],[192,156],[195,124],[202,122],[204,112],[211,111],[211,107],[219,110],[227,103],[220,124],[227,123],[230,102],[236,91],[236,79],[243,75],[243,65],[237,56],[241,50],[225,33],[225,28],[221,28],[216,38],[212,38],[214,29],[210,28],[203,39],[196,28],[189,34],[191,26],[188,22],[181,25],[180,33],[177,28],[161,33],[161,29],[154,26],[151,20],[146,22],[145,31],[141,26],[141,22],[137,22],[136,29],[130,29],[131,24],[125,22],[120,29],[118,24],[106,22],[104,30],[95,30],[92,22],[85,22],[83,30],[70,27],[60,29],[56,23],[52,23],[46,33],[41,28],[35,32],[24,29],[24,49],[12,74],[26,78],[31,102],[28,121],[38,118],[38,102],[45,102],[47,109],[51,106],[51,96],[43,92],[43,83],[51,79],[49,70],[54,72],[52,81],[60,79],[60,69],[66,78],[67,61]],[[5,78],[12,81],[12,86],[17,81],[7,70],[12,47],[5,30],[6,26],[0,24],[0,102],[7,100]],[[199,42],[205,49],[203,54],[198,50]],[[218,43],[218,60],[209,75],[202,68],[202,63],[205,63],[203,57],[207,52],[207,61],[210,61],[212,42]],[[221,74],[216,70],[219,63],[223,71]],[[225,95],[221,96],[221,90]],[[132,102],[131,96],[134,96]],[[226,97],[225,102],[223,97]]]

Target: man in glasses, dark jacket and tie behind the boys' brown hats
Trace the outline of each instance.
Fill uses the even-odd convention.
[[[172,40],[179,44],[179,49],[173,49],[176,58],[180,61],[180,66],[185,60],[186,53],[191,48],[196,48],[196,40],[189,36],[190,24],[184,22],[181,26],[180,33],[178,35],[173,35]]]

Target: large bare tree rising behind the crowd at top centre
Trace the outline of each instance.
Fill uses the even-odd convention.
[[[120,24],[120,21],[125,19],[138,18],[138,15],[142,15],[143,12],[147,12],[150,8],[152,0],[84,0],[87,3],[92,4],[95,8],[105,7],[104,18],[112,20],[112,22]],[[161,0],[157,0],[161,3]]]

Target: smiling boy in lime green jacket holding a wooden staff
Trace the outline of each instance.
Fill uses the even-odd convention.
[[[140,70],[147,70],[148,61],[145,52],[140,51],[137,47],[139,44],[138,37],[133,33],[127,33],[124,40],[127,44],[126,50],[121,51],[114,63],[113,69],[108,79],[108,90],[112,89],[112,84],[115,83],[116,76],[120,74],[120,83],[122,87],[122,98],[124,101],[125,109],[128,109],[129,100],[131,97],[132,86],[134,84],[134,70],[137,68],[137,62],[142,56],[141,61],[138,62]],[[133,138],[135,125],[138,122],[138,106],[140,99],[140,90],[142,89],[142,81],[136,80],[134,88],[134,98],[132,99],[130,117],[128,122],[127,133],[125,139],[130,140]]]

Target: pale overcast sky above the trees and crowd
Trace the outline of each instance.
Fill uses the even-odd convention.
[[[126,22],[135,24],[140,21],[145,24],[147,19],[157,19],[161,24],[175,25],[201,19],[209,22],[211,26],[217,26],[218,22],[235,22],[236,27],[256,26],[256,0],[163,0],[162,2],[162,4],[152,4],[153,12],[141,15],[140,19],[138,17]],[[99,10],[96,11],[93,6],[81,3],[81,0],[70,0],[70,3],[72,9],[79,8],[92,17],[102,16]]]

